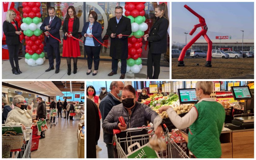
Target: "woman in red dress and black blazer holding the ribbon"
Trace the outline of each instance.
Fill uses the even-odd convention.
[[[71,57],[74,62],[74,74],[77,72],[77,57],[81,56],[78,38],[79,18],[76,16],[74,6],[69,6],[67,9],[66,18],[62,27],[63,37],[63,53],[62,57],[67,57],[68,75],[71,74]],[[74,38],[72,38],[73,36]]]

